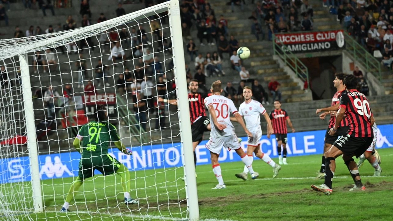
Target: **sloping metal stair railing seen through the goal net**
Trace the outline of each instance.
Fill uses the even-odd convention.
[[[121,96],[120,94],[116,94],[116,101],[118,103],[117,110],[119,112],[119,117],[124,121],[125,125],[128,125],[130,134],[136,137],[140,144],[146,144],[146,131],[140,126],[139,128],[137,127],[137,125],[140,125],[140,123],[138,122],[138,120],[136,120],[134,114],[130,112],[128,108],[128,103],[127,101],[125,101],[123,96]]]

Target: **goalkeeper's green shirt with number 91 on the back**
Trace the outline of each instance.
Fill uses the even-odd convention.
[[[108,153],[108,145],[120,140],[117,129],[109,122],[92,121],[83,125],[77,136],[82,141],[82,157],[101,156]]]

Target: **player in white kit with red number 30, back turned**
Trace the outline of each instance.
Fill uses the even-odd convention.
[[[213,190],[226,188],[224,180],[222,179],[221,168],[219,164],[219,155],[221,153],[222,147],[236,151],[236,153],[241,157],[244,165],[246,165],[248,168],[248,171],[251,173],[252,179],[257,178],[259,174],[253,171],[250,159],[247,157],[247,154],[244,153],[240,146],[239,140],[235,134],[235,128],[230,121],[230,113],[235,116],[237,122],[242,125],[248,136],[252,136],[252,134],[246,128],[243,118],[240,116],[239,112],[237,112],[233,101],[224,96],[221,96],[221,81],[215,81],[211,85],[211,92],[213,95],[205,98],[205,105],[209,110],[210,122],[213,122],[213,124],[211,124],[210,139],[205,147],[210,151],[213,172],[219,181],[219,184],[212,188]]]

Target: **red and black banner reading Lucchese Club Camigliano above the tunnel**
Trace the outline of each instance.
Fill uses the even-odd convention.
[[[275,42],[292,53],[332,51],[344,46],[344,35],[343,30],[279,33]]]

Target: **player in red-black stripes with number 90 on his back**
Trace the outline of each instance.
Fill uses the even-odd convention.
[[[368,99],[364,94],[356,90],[358,84],[357,78],[353,75],[347,75],[344,78],[344,92],[340,98],[340,106],[336,115],[336,122],[334,127],[330,129],[329,134],[334,135],[338,131],[338,126],[341,124],[343,118],[349,121],[349,131],[344,136],[341,136],[332,147],[325,153],[325,183],[316,186],[311,185],[311,188],[330,195],[332,193],[332,179],[336,169],[336,158],[343,155],[343,160],[355,186],[349,191],[365,190],[365,187],[360,180],[358,166],[353,160],[353,156],[358,158],[362,155],[373,142],[374,134],[372,125],[375,120],[371,113]]]

